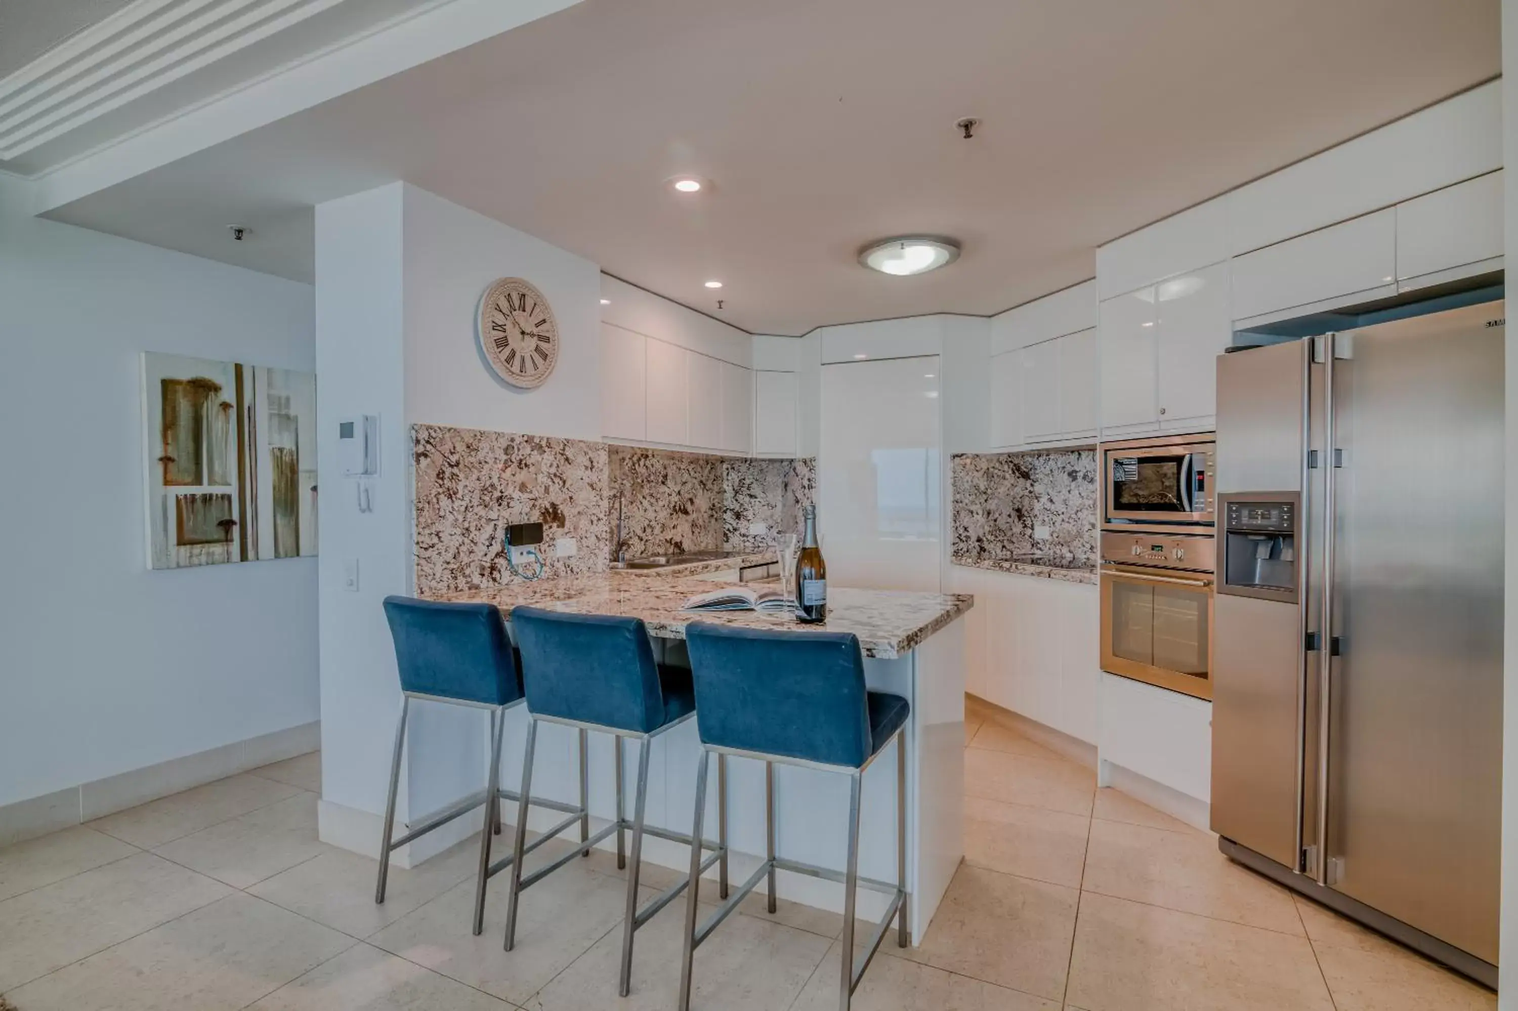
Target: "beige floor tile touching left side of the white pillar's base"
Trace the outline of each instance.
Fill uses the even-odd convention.
[[[325,852],[316,838],[316,800],[302,791],[153,852],[232,888],[250,888]]]

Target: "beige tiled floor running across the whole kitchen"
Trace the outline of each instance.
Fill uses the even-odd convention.
[[[970,700],[965,865],[923,947],[893,944],[861,1011],[1377,1011],[1495,997],[1217,853],[1213,836]],[[671,1008],[683,903],[639,932],[616,997],[624,880],[597,853],[469,932],[475,849],[392,871],[316,841],[319,756],[0,850],[0,993],[18,1011]],[[671,873],[648,868],[660,887]],[[650,893],[651,894],[651,893]],[[707,893],[709,894],[709,893]],[[697,958],[695,1006],[836,1006],[839,918],[762,899]]]

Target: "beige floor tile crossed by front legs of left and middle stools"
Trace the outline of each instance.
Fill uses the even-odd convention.
[[[472,934],[475,882],[469,877],[369,941],[502,1000],[522,1003],[607,931],[616,928],[621,937],[627,882],[598,874],[575,861],[522,893],[516,947],[505,952],[501,946],[505,938],[507,885],[505,871],[490,879],[484,934],[480,937]],[[653,894],[642,890],[642,900]],[[671,911],[679,906],[676,902],[660,915],[672,915]]]

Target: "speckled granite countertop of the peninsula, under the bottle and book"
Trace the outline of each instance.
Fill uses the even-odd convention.
[[[683,639],[685,627],[692,621],[710,621],[741,628],[852,631],[859,636],[864,654],[879,659],[894,659],[917,648],[975,604],[975,598],[964,594],[914,594],[835,586],[827,594],[827,621],[817,625],[805,625],[789,615],[762,615],[751,610],[716,613],[682,610],[686,600],[709,592],[713,586],[716,584],[709,580],[689,577],[666,575],[650,580],[642,574],[613,571],[437,594],[431,600],[481,601],[495,604],[505,612],[518,604],[528,604],[583,615],[642,618],[650,635],[662,639]]]

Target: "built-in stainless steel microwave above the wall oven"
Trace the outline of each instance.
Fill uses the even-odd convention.
[[[1213,524],[1213,436],[1102,443],[1102,524]]]

